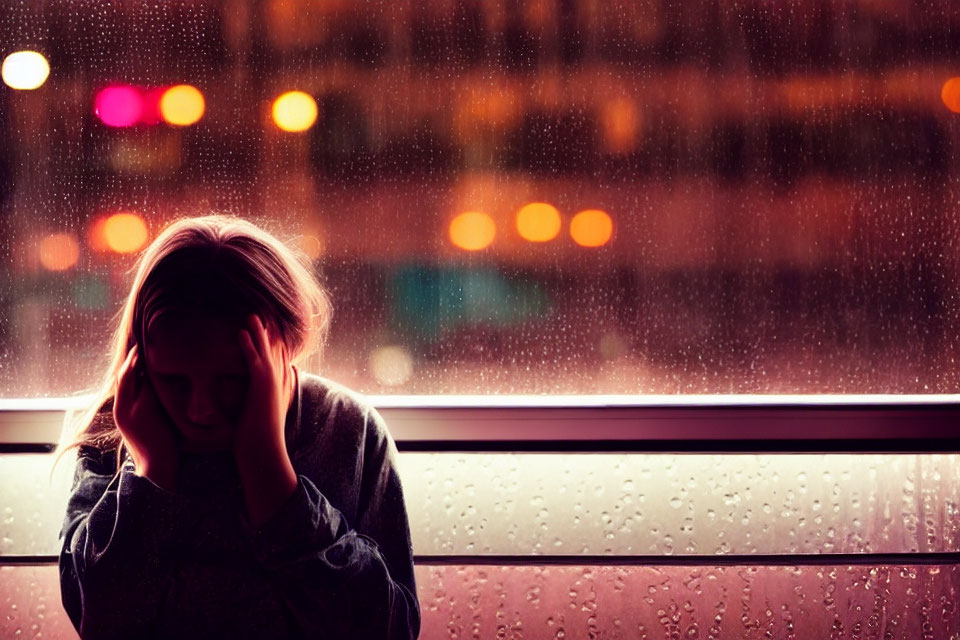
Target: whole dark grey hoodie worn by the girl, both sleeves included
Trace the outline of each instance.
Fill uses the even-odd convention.
[[[111,406],[98,420],[112,421]],[[254,529],[232,453],[181,454],[177,492],[81,448],[61,530],[63,605],[82,638],[415,638],[413,551],[382,418],[298,375],[294,495]]]

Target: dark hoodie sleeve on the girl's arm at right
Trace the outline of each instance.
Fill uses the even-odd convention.
[[[251,531],[293,620],[311,638],[407,640],[420,630],[413,549],[396,447],[376,411],[358,478],[357,521],[347,522],[305,475],[281,510]]]

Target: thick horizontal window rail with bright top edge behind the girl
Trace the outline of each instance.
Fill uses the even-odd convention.
[[[960,396],[384,396],[402,451],[956,452]],[[0,400],[0,451],[49,451],[76,400]]]

